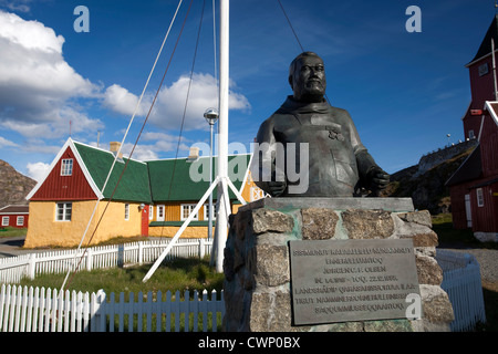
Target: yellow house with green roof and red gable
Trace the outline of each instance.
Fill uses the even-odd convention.
[[[111,150],[105,150],[66,140],[46,176],[27,197],[25,248],[77,246],[83,235],[83,244],[115,237],[175,236],[209,187],[209,173],[205,173],[209,157],[151,162],[118,157],[102,190],[118,147],[112,143]],[[250,154],[229,156],[229,178],[246,201],[263,196],[250,178]],[[216,204],[216,189],[212,196]],[[230,202],[232,211],[240,206],[231,191]],[[208,209],[206,202],[183,238],[207,237]]]

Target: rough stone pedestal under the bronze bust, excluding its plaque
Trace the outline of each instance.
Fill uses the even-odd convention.
[[[448,331],[453,309],[434,259],[428,211],[409,198],[266,198],[230,216],[225,248],[225,331]],[[413,239],[423,317],[293,325],[289,241]]]

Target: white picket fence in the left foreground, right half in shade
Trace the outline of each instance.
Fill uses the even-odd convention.
[[[222,292],[218,299],[216,291],[210,299],[206,290],[191,298],[189,291],[118,298],[2,284],[0,332],[216,332],[225,314]]]

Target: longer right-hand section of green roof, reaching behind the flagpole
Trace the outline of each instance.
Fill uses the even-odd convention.
[[[228,156],[228,177],[238,190],[246,177],[249,160],[249,154]],[[198,200],[209,188],[209,157],[200,157],[193,163],[187,158],[153,160],[147,162],[147,165],[154,201]],[[217,157],[212,158],[212,176],[216,176]],[[212,197],[217,198],[217,188]],[[236,199],[231,190],[229,197]]]

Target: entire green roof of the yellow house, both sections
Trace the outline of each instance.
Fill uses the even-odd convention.
[[[100,148],[73,142],[87,171],[100,190],[104,186],[114,155]],[[128,159],[117,160],[114,165],[104,198],[111,198],[113,190]],[[212,158],[214,176],[216,176],[217,157]],[[228,157],[228,177],[240,190],[248,169],[250,155]],[[199,180],[200,179],[200,180]],[[206,180],[203,180],[206,179]],[[209,157],[200,157],[196,162],[187,158],[138,162],[131,159],[114,192],[113,200],[153,204],[157,201],[199,200],[209,188]],[[214,190],[217,198],[217,188]],[[230,199],[237,199],[229,190]]]

